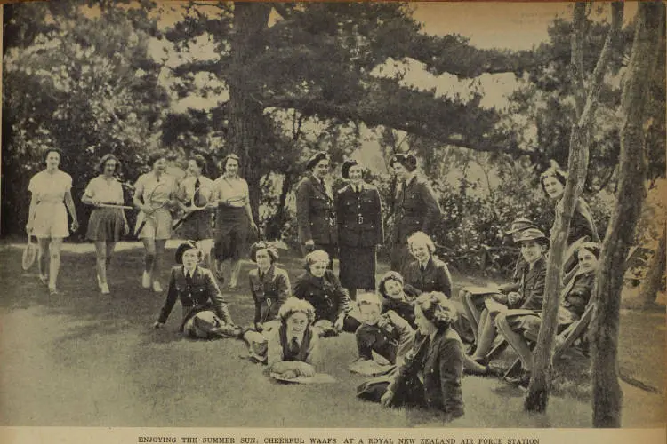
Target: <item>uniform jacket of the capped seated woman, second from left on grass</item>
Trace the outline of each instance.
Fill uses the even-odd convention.
[[[254,300],[254,323],[277,319],[277,313],[285,299],[290,297],[290,278],[287,272],[277,266],[271,266],[260,277],[259,268],[248,273],[250,291]]]

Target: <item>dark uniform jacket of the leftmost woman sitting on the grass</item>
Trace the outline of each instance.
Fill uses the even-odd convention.
[[[232,323],[229,308],[213,274],[201,266],[195,268],[190,284],[185,278],[183,266],[172,268],[165,305],[162,306],[157,321],[166,322],[169,314],[172,313],[173,305],[176,304],[176,299],[181,299],[181,305],[183,305],[184,316],[181,330],[189,318],[205,310],[212,310],[225,323]]]

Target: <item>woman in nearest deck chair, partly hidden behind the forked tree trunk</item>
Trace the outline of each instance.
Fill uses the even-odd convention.
[[[579,321],[591,299],[591,291],[595,283],[595,270],[598,268],[599,244],[583,243],[575,251],[578,269],[574,279],[563,289],[564,295],[559,305],[558,333],[567,329],[575,321]],[[533,369],[533,352],[529,341],[536,342],[542,326],[542,313],[522,313],[522,310],[509,310],[500,313],[495,320],[498,330],[517,351],[524,369],[519,382],[527,382]],[[563,337],[556,337],[556,346],[562,344]]]

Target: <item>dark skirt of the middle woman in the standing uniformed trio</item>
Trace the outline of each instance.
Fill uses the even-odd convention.
[[[376,247],[339,246],[341,285],[346,289],[375,289]]]

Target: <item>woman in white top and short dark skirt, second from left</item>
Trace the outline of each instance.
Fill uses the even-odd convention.
[[[88,219],[85,237],[95,242],[97,253],[97,285],[103,295],[108,295],[107,271],[111,255],[120,240],[121,232],[128,234],[125,212],[121,208],[105,205],[123,204],[123,186],[115,177],[120,170],[120,161],[115,155],[104,155],[97,165],[100,176],[93,178],[85,187],[81,202],[95,207]]]

